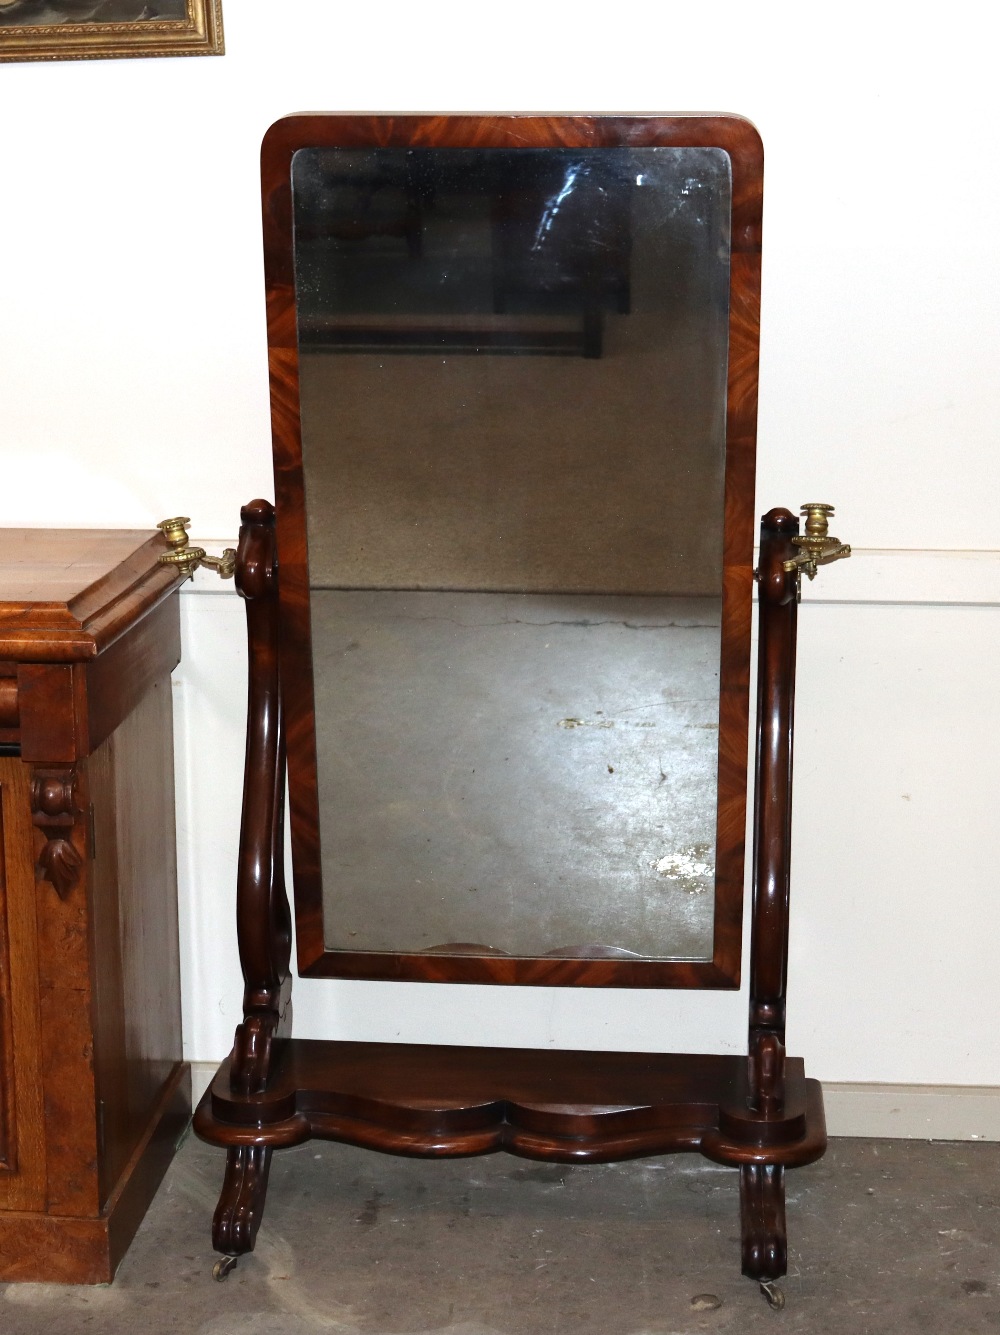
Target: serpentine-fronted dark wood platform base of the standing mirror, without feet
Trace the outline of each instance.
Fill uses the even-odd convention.
[[[804,1164],[826,1144],[822,1097],[789,1061],[781,1119],[748,1119],[742,1057],[278,1040],[264,1095],[220,1067],[196,1116],[222,1145],[318,1137],[390,1153],[498,1149],[610,1163],[698,1149],[722,1164]]]

